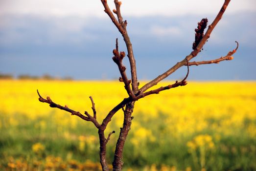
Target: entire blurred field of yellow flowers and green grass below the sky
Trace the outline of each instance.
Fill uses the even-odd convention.
[[[0,170],[99,170],[97,129],[36,89],[81,113],[93,96],[99,122],[126,97],[119,82],[0,80]],[[125,171],[256,171],[256,82],[188,82],[136,102],[133,116]],[[105,131],[116,131],[109,164],[122,120]]]

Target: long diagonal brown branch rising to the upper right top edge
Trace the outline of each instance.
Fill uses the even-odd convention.
[[[177,64],[175,64],[174,66],[172,66],[170,69],[168,69],[166,72],[164,72],[163,74],[159,75],[157,78],[155,78],[154,80],[150,81],[149,83],[147,83],[146,85],[142,86],[139,89],[140,93],[143,93],[144,91],[146,91],[147,89],[149,89],[150,87],[157,85],[161,80],[165,79],[166,77],[168,77],[169,75],[171,75],[173,72],[175,72],[177,69],[179,69],[181,66],[186,65],[186,59],[188,61],[190,61],[192,58],[194,58],[202,49],[203,45],[206,43],[206,41],[209,39],[210,34],[212,32],[212,30],[214,29],[214,27],[216,26],[216,24],[220,21],[220,19],[222,18],[222,15],[224,14],[228,4],[229,4],[230,0],[225,0],[224,4],[221,7],[221,10],[219,11],[218,15],[216,16],[216,18],[214,19],[214,21],[209,25],[208,30],[206,32],[206,34],[203,36],[203,38],[201,39],[200,43],[198,43],[198,45],[196,46],[196,48],[194,49],[194,51],[192,51],[189,55],[186,56],[186,58],[184,60],[182,60],[181,62],[178,62]]]

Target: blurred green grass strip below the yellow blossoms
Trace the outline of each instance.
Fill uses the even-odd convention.
[[[4,123],[7,115],[1,113],[0,121]],[[146,129],[152,131],[156,137],[155,141],[150,141],[150,137],[141,142],[139,147],[135,147],[131,143],[134,136],[133,126],[127,138],[124,148],[124,167],[139,168],[142,170],[146,166],[156,164],[160,168],[163,164],[166,166],[175,166],[177,170],[186,170],[191,167],[193,170],[200,168],[200,152],[196,150],[199,159],[198,163],[193,162],[191,153],[188,152],[186,143],[198,134],[209,134],[214,137],[214,129],[211,127],[194,134],[173,136],[173,132],[166,132],[168,125],[163,124],[165,115],[158,118],[149,118],[146,121],[143,117],[135,117]],[[64,117],[70,117],[69,115]],[[98,150],[99,144],[96,139],[92,144],[86,144],[84,150],[79,149],[79,136],[94,135],[97,132],[91,123],[78,122],[76,128],[65,127],[60,128],[47,115],[45,118],[37,120],[29,120],[22,114],[17,114],[16,119],[19,121],[17,126],[3,127],[0,129],[0,165],[2,168],[8,168],[10,157],[21,159],[30,165],[34,161],[41,161],[44,165],[47,163],[47,156],[61,157],[63,163],[69,163],[75,160],[77,163],[84,163],[87,160],[93,163],[99,162]],[[38,123],[44,121],[47,123],[44,129],[37,127]],[[115,118],[114,121],[115,122]],[[219,120],[210,120],[210,123],[219,124]],[[243,127],[234,129],[235,133],[231,135],[221,135],[221,139],[216,141],[214,149],[206,151],[205,168],[209,171],[255,171],[256,170],[256,138],[250,137],[246,132],[247,125],[255,121],[245,120]],[[118,126],[112,125],[114,130],[118,130]],[[232,127],[231,127],[232,128]],[[70,139],[67,138],[70,136]],[[108,161],[112,162],[114,155],[116,135],[111,137],[108,144]],[[36,153],[32,150],[35,143],[41,143],[45,146],[45,150]],[[43,164],[42,164],[43,165]],[[55,168],[56,169],[56,168]]]

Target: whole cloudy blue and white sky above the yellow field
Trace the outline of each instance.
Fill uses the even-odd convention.
[[[152,79],[191,52],[194,28],[211,22],[224,0],[123,0],[122,15],[134,46],[140,79]],[[114,9],[112,0],[109,5]],[[198,60],[234,60],[194,66],[191,80],[255,80],[256,1],[231,0]],[[0,73],[115,79],[111,60],[122,38],[100,0],[0,0]],[[126,62],[127,64],[127,62]],[[181,68],[170,79],[180,79]]]

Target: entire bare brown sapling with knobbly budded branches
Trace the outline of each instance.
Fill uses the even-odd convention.
[[[37,90],[37,93],[39,95],[39,101],[49,104],[50,107],[56,107],[56,108],[68,111],[71,113],[71,115],[76,115],[76,116],[80,117],[81,119],[83,119],[85,121],[90,121],[94,124],[94,126],[98,129],[99,145],[100,145],[99,156],[100,156],[100,163],[101,163],[102,171],[109,171],[108,162],[106,160],[106,146],[110,139],[111,134],[115,133],[115,131],[112,131],[106,136],[105,129],[108,126],[109,122],[111,121],[112,117],[115,115],[115,113],[118,110],[122,109],[123,113],[124,113],[123,126],[122,126],[122,128],[120,128],[119,137],[116,142],[116,150],[115,150],[114,160],[112,163],[113,171],[121,171],[122,166],[123,166],[122,156],[123,156],[124,143],[125,143],[128,133],[129,133],[129,130],[131,129],[131,123],[132,123],[132,119],[133,119],[132,113],[133,113],[134,104],[136,103],[136,101],[140,100],[143,97],[149,96],[151,94],[158,94],[163,90],[175,88],[177,86],[186,85],[187,84],[186,79],[189,74],[189,66],[191,66],[191,65],[218,64],[221,61],[233,59],[232,55],[236,52],[236,50],[238,48],[237,42],[236,42],[237,43],[236,48],[233,51],[228,52],[228,54],[224,57],[220,57],[218,59],[213,59],[210,61],[190,62],[192,59],[194,59],[198,55],[198,53],[202,50],[204,44],[208,41],[212,30],[215,28],[217,23],[221,20],[230,1],[231,0],[225,0],[219,13],[215,17],[215,19],[212,21],[212,23],[209,24],[208,28],[207,28],[208,19],[202,19],[202,21],[198,22],[198,27],[195,29],[195,32],[196,32],[195,33],[195,42],[192,44],[193,50],[190,54],[188,54],[183,60],[181,60],[177,64],[170,67],[167,71],[163,72],[161,75],[159,75],[155,79],[153,79],[153,80],[149,81],[148,83],[146,83],[145,85],[139,87],[137,71],[136,71],[136,62],[135,62],[135,57],[133,54],[133,47],[132,47],[130,38],[128,36],[128,31],[126,29],[127,21],[126,20],[123,21],[123,18],[121,15],[121,10],[120,10],[121,1],[114,0],[116,9],[111,11],[109,8],[109,5],[107,3],[107,0],[101,0],[102,4],[104,6],[105,13],[110,17],[111,21],[116,25],[116,28],[122,35],[123,40],[126,44],[127,53],[128,53],[127,55],[125,54],[124,51],[119,52],[118,41],[116,39],[116,48],[113,50],[114,57],[112,59],[118,66],[118,69],[119,69],[119,72],[121,75],[121,77],[119,78],[119,81],[124,83],[124,87],[127,91],[127,97],[124,98],[119,104],[117,104],[111,111],[109,111],[109,113],[103,119],[102,123],[99,123],[96,118],[96,109],[95,109],[95,105],[93,102],[93,98],[91,96],[90,96],[90,99],[92,102],[93,115],[89,114],[89,112],[87,112],[87,111],[85,111],[84,114],[82,114],[79,111],[72,110],[67,106],[61,106],[59,104],[56,104],[50,99],[50,97],[47,97],[46,99],[43,98],[39,94],[39,91]],[[207,31],[205,32],[206,28],[207,28]],[[130,71],[131,72],[131,80],[127,77],[126,67],[122,63],[122,60],[124,59],[125,56],[127,56],[129,59],[129,64],[130,64],[130,68],[131,68],[131,71]],[[187,67],[187,73],[183,80],[176,81],[175,83],[170,84],[170,85],[157,87],[153,90],[148,90],[149,88],[157,85],[164,78],[166,78],[169,75],[171,75],[172,73],[174,73],[177,69],[179,69],[182,66]]]

